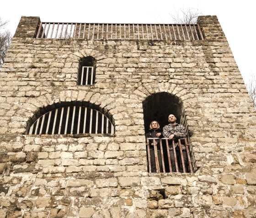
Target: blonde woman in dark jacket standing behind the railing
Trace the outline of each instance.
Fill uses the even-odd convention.
[[[157,121],[154,120],[150,123],[149,132],[146,134],[146,144],[149,145],[151,172],[156,172],[154,142],[151,139],[151,140],[149,140],[149,144],[148,144],[147,139],[148,138],[160,138],[160,137],[162,137],[160,125]],[[155,140],[155,144],[157,147],[157,157],[158,157],[157,165],[160,168],[160,172],[163,172],[163,164],[162,164],[159,140]]]

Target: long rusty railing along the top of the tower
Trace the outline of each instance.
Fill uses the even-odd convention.
[[[36,38],[84,40],[203,40],[198,24],[103,24],[41,22]]]

